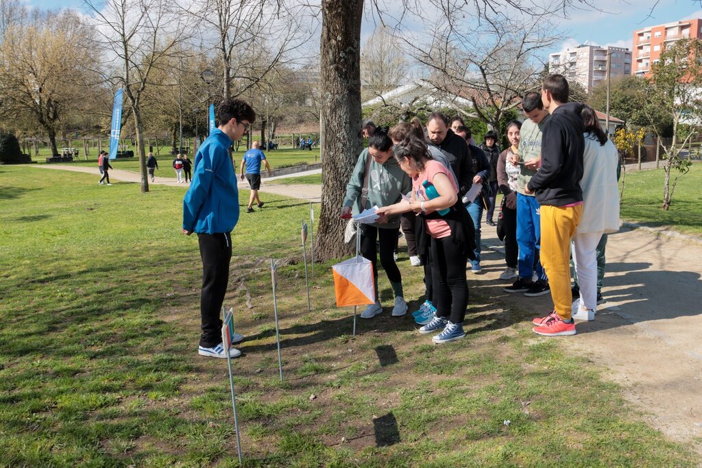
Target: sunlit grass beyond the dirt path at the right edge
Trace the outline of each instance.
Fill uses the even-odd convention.
[[[674,171],[671,176],[675,174]],[[647,226],[702,234],[702,164],[694,163],[690,172],[680,178],[668,211],[661,209],[664,176],[663,169],[626,174],[621,218]]]

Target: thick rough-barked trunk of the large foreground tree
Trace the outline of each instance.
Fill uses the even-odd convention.
[[[322,212],[316,246],[319,260],[355,250],[345,244],[339,211],[354,163],[362,150],[361,20],[363,0],[322,0]]]

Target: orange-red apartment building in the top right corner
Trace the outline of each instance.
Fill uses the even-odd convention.
[[[702,37],[702,20],[684,20],[666,25],[644,27],[634,32],[631,74],[650,76],[651,65],[658,62],[666,44],[682,38]]]

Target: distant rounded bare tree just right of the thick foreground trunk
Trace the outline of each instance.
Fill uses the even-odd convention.
[[[380,96],[406,79],[409,66],[397,37],[388,26],[377,27],[361,52],[363,99]]]

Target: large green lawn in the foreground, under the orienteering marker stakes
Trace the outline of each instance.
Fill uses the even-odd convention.
[[[698,463],[600,369],[531,333],[530,310],[503,309],[482,288],[471,290],[468,336],[442,346],[388,309],[351,337],[331,262],[317,265],[307,312],[309,205],[262,196],[265,208],[242,213],[232,235],[225,300],[247,337],[234,361],[245,466]],[[140,194],[0,166],[1,467],[237,466],[226,362],[197,356],[201,263],[197,239],[178,232],[182,198],[183,187]],[[282,265],[284,382],[271,257]],[[405,253],[400,267],[416,307],[421,272]],[[380,293],[392,300],[382,274]]]

